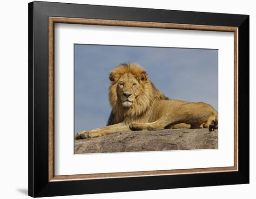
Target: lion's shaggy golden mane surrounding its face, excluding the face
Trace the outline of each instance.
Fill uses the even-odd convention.
[[[140,95],[129,108],[125,108],[121,105],[116,92],[117,82],[125,73],[133,74],[142,86]],[[109,79],[111,80],[111,85],[108,89],[108,98],[112,111],[107,125],[113,125],[121,122],[131,123],[135,120],[138,121],[140,118],[145,116],[149,107],[152,106],[155,101],[168,99],[168,97],[156,89],[153,83],[148,79],[145,69],[137,64],[129,63],[117,66],[110,72]]]

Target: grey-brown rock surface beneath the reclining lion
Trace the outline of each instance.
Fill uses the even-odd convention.
[[[143,130],[74,140],[76,154],[216,148],[218,148],[218,130],[209,132],[208,128]]]

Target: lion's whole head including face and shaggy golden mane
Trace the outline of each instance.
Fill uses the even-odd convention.
[[[134,63],[121,64],[109,73],[108,99],[114,118],[108,124],[141,117],[156,99],[168,99],[148,79],[145,69]]]

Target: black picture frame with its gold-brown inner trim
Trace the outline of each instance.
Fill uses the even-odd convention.
[[[233,32],[234,166],[54,175],[54,23]],[[31,2],[28,93],[29,196],[249,183],[249,15]]]

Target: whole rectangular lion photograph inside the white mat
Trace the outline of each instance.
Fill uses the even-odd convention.
[[[74,44],[74,153],[218,148],[218,50]]]

